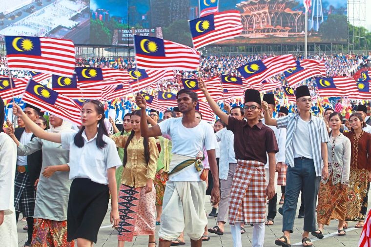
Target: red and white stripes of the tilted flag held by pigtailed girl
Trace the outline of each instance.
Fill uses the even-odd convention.
[[[57,117],[81,125],[81,107],[71,98],[58,94],[54,104],[49,104],[36,98],[33,94],[24,92],[22,101],[37,106],[43,111],[49,112]]]

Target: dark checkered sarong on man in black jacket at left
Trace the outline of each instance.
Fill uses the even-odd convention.
[[[36,190],[27,172],[16,171],[14,180],[14,207],[23,217],[34,217]]]

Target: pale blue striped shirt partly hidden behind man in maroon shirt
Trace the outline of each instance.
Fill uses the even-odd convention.
[[[232,131],[223,128],[215,133],[216,140],[220,142],[219,158],[219,179],[227,180],[229,163],[237,163],[234,154],[234,134]]]

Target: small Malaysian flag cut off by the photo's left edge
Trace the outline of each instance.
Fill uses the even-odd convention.
[[[13,93],[10,82],[12,82]],[[0,97],[2,100],[6,101],[12,99],[13,95],[14,97],[22,96],[26,89],[27,82],[28,80],[23,78],[12,78],[10,80],[9,77],[0,77]]]

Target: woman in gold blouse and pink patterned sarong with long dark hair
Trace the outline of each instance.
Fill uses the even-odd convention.
[[[118,247],[132,242],[134,236],[149,235],[148,247],[156,246],[155,200],[153,185],[158,149],[155,138],[141,136],[141,111],[131,113],[129,136],[111,136],[119,148],[124,148],[123,175],[119,191]]]

